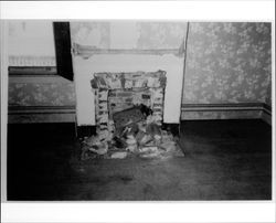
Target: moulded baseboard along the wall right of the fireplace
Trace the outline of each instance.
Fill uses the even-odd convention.
[[[268,107],[264,103],[183,104],[181,119],[259,119]]]

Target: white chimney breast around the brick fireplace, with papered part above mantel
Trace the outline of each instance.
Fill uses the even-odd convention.
[[[71,22],[72,42],[88,46],[92,54],[73,56],[76,84],[77,125],[95,125],[94,94],[91,79],[98,72],[167,72],[164,123],[179,123],[183,76],[181,55],[159,54],[160,50],[178,52],[185,36],[187,23],[172,22]],[[94,55],[98,50],[100,55]],[[106,52],[107,50],[107,52]],[[112,54],[108,50],[128,50]],[[148,50],[148,54],[140,50]]]

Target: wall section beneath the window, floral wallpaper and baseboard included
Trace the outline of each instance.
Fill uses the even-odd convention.
[[[9,77],[9,123],[75,121],[75,86],[61,76]]]

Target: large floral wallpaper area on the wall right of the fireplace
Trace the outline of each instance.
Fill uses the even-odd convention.
[[[183,103],[265,103],[270,36],[270,23],[190,23]]]

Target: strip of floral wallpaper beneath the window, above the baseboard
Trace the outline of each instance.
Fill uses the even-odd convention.
[[[10,83],[10,106],[75,105],[73,83]]]

